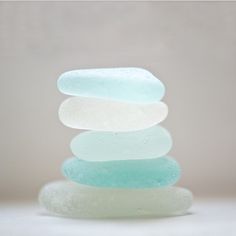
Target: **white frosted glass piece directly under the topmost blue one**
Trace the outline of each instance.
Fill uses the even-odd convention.
[[[167,113],[163,102],[139,104],[72,97],[61,104],[59,119],[70,128],[119,132],[151,127],[163,121]]]

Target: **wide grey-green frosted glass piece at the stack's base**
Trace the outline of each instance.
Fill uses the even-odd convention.
[[[39,202],[53,214],[74,218],[160,217],[185,214],[192,194],[179,187],[109,189],[59,181],[42,188]]]

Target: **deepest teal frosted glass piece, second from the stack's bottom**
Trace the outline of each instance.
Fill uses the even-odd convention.
[[[62,171],[74,182],[112,188],[163,187],[175,184],[180,177],[180,167],[170,157],[109,162],[72,158],[64,162]]]

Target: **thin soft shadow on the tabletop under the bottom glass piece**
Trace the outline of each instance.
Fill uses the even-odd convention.
[[[42,216],[42,217],[50,217],[50,218],[54,218],[54,219],[64,219],[64,220],[72,220],[72,221],[85,221],[85,222],[121,222],[122,221],[153,221],[153,220],[166,220],[166,219],[171,219],[171,218],[180,218],[180,217],[184,217],[184,216],[190,216],[190,215],[194,215],[194,212],[187,212],[183,215],[172,215],[172,216],[140,216],[140,217],[112,217],[112,218],[79,218],[79,217],[69,217],[69,216],[62,216],[62,215],[56,215],[53,213],[49,213],[46,211],[40,211],[37,213],[38,216]]]

